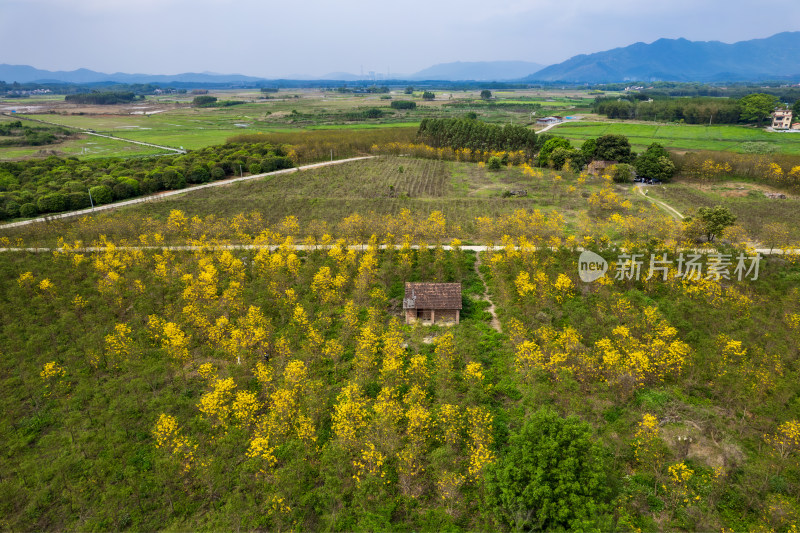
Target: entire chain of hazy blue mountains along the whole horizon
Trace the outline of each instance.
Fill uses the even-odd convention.
[[[295,80],[370,81],[368,76],[331,72],[321,77]],[[613,83],[625,81],[731,82],[759,80],[800,81],[800,32],[784,32],[766,39],[725,44],[719,41],[659,39],[605,52],[582,54],[542,68],[527,61],[474,61],[441,63],[394,80],[518,81]],[[88,69],[52,72],[27,65],[0,64],[0,80],[8,83],[181,83],[255,85],[274,80],[240,74],[211,72],[175,75],[104,74]],[[387,81],[378,77],[376,83]]]

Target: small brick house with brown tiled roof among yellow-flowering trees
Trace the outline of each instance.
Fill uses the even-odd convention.
[[[406,283],[403,298],[406,324],[458,324],[461,319],[460,283]]]

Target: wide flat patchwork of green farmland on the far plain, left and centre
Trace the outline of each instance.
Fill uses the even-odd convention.
[[[586,107],[590,98],[580,93],[562,94],[558,91],[496,91],[492,102],[479,98],[479,91],[437,91],[437,99],[424,101],[421,92],[414,95],[393,91],[391,99],[377,94],[340,94],[320,90],[280,91],[263,98],[259,91],[212,91],[220,101],[241,101],[240,105],[215,108],[192,108],[192,95],[148,96],[143,102],[120,106],[69,107],[58,104],[59,99],[31,99],[20,102],[20,118],[29,117],[49,123],[92,129],[120,138],[160,144],[170,147],[198,149],[224,143],[241,133],[276,132],[298,129],[378,129],[416,126],[426,117],[460,117],[469,111],[477,112],[486,122],[507,124],[530,123],[533,119],[524,109],[505,109],[491,103],[525,105],[541,104],[537,114],[561,113],[572,107]],[[393,100],[414,100],[414,110],[391,109]],[[63,98],[62,98],[63,100]],[[53,105],[54,112],[47,112]],[[452,105],[451,105],[452,104]],[[60,105],[60,107],[59,107]],[[27,106],[35,111],[25,114]],[[376,119],[356,119],[354,113],[378,108],[384,116]],[[149,114],[145,114],[149,113]],[[68,155],[81,156],[77,149],[55,147]],[[120,147],[118,151],[104,148],[107,155],[126,155],[134,150]],[[33,156],[36,150],[14,151],[0,157]],[[99,153],[99,152],[97,152]]]

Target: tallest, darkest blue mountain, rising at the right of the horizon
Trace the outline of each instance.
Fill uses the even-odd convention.
[[[800,78],[800,32],[725,44],[659,39],[606,52],[578,55],[524,81],[758,81]]]

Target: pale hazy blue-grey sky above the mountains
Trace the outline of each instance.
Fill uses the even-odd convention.
[[[0,63],[279,77],[800,30],[798,0],[0,0]]]

